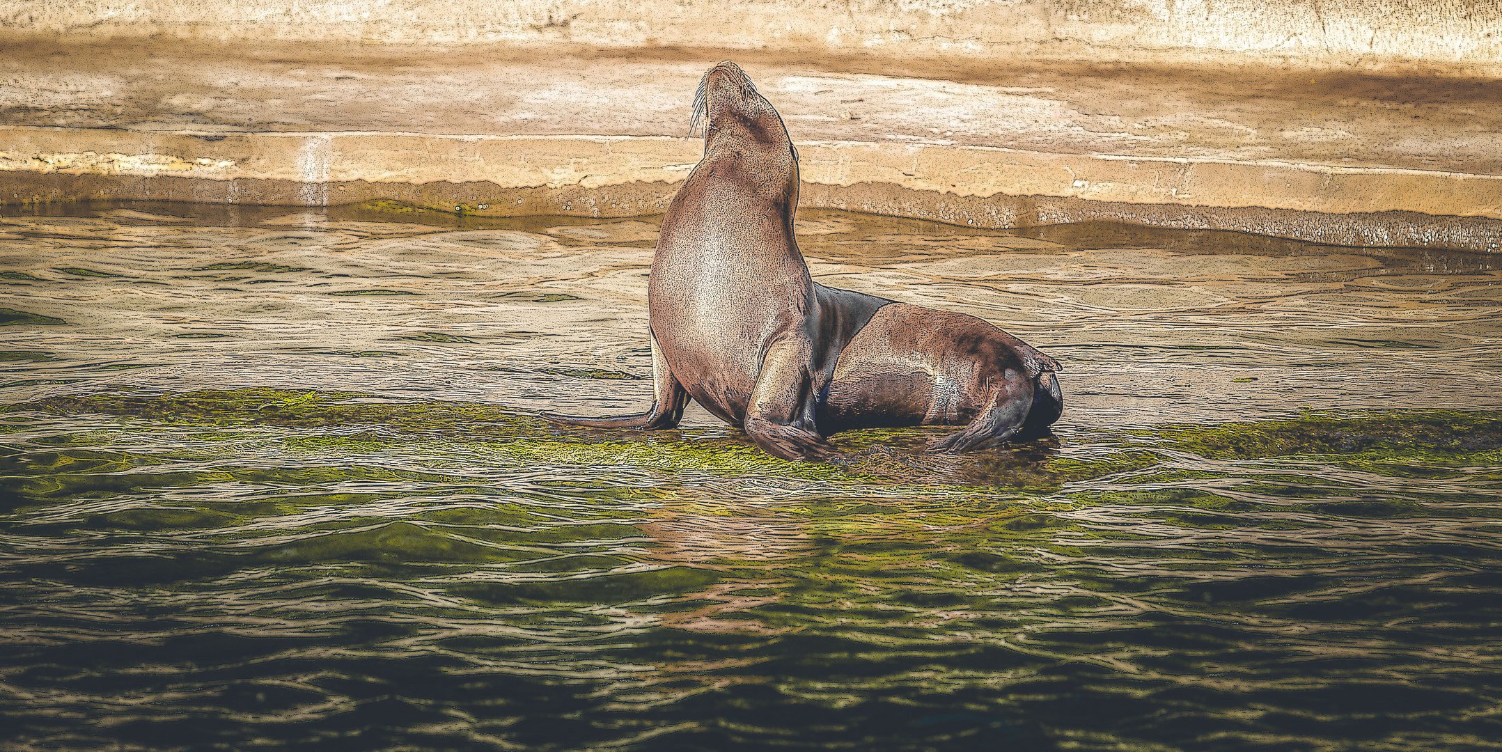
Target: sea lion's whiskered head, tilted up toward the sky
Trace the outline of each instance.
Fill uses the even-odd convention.
[[[704,155],[721,146],[730,150],[751,147],[786,155],[796,173],[798,150],[787,137],[783,116],[756,90],[751,77],[730,60],[715,63],[698,81],[689,132],[700,128]]]

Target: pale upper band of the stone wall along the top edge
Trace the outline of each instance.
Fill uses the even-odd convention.
[[[1502,71],[1497,0],[9,0],[0,35]]]

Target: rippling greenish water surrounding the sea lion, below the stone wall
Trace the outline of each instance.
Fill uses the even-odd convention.
[[[1065,363],[1048,440],[649,393],[653,219],[0,218],[6,746],[1476,749],[1502,257],[810,212]]]

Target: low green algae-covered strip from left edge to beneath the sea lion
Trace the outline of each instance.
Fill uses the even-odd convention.
[[[410,450],[421,443],[467,446],[487,462],[517,467],[634,467],[658,473],[760,474],[825,482],[879,482],[888,486],[1047,489],[1158,461],[1142,449],[1102,447],[1087,456],[1059,456],[1056,443],[1023,443],[966,456],[922,452],[933,429],[856,431],[835,437],[834,462],[774,458],[733,429],[593,431],[559,426],[475,402],[394,402],[353,392],[281,389],[186,393],[96,393],[53,396],[8,411],[102,413],[183,426],[281,426],[303,429],[285,438],[299,452]]]

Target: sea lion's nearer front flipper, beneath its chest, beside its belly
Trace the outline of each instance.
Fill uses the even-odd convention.
[[[834,450],[814,431],[810,345],[780,339],[766,350],[742,428],[771,455],[783,459],[828,459]]]

